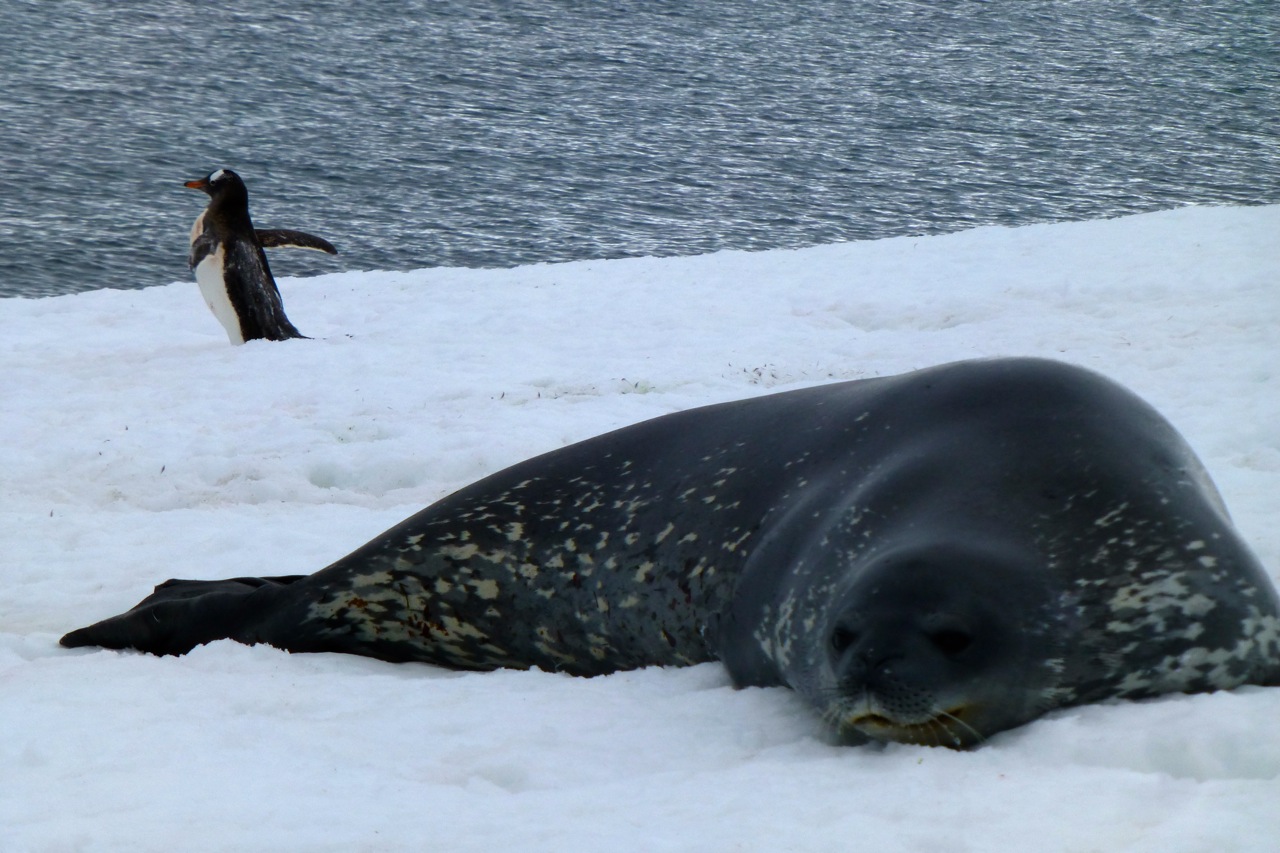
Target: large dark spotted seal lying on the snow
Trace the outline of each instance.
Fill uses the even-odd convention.
[[[721,660],[841,742],[1280,684],[1280,601],[1174,428],[1052,361],[694,409],[527,460],[312,575],[170,580],[64,646],[467,670]]]

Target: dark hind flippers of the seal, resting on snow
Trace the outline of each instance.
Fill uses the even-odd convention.
[[[74,630],[67,648],[101,646],[151,654],[186,654],[216,639],[251,639],[270,594],[305,575],[166,580],[128,612]]]

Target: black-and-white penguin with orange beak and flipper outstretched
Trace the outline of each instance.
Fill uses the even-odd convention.
[[[230,169],[219,169],[183,186],[209,193],[209,206],[191,227],[188,263],[196,272],[201,296],[232,343],[306,337],[284,316],[280,291],[262,248],[297,246],[330,255],[337,255],[338,250],[301,231],[253,228],[248,218],[248,190]]]

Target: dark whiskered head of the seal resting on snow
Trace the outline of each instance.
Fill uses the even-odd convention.
[[[796,686],[845,743],[972,747],[1059,704],[1057,599],[1021,553],[882,553],[815,625],[826,642]]]

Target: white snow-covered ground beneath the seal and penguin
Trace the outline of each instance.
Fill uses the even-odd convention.
[[[0,301],[3,850],[1268,850],[1280,689],[842,748],[718,665],[456,674],[229,642],[67,651],[170,576],[310,573],[534,453],[995,355],[1155,403],[1280,567],[1280,206],[796,251]]]

